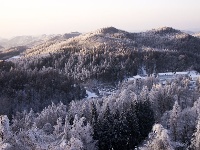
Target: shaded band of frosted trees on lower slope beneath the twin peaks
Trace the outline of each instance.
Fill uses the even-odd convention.
[[[79,81],[121,81],[142,73],[147,74],[187,69],[200,70],[200,57],[189,52],[154,51],[145,49],[115,49],[102,45],[93,50],[77,47],[62,49],[59,53],[19,62],[22,68],[41,70],[53,68]]]

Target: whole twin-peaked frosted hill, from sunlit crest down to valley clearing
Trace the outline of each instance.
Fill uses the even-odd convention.
[[[18,64],[28,61],[25,67],[33,69],[37,62],[39,69],[53,67],[81,80],[109,75],[116,80],[144,69],[147,74],[200,70],[199,52],[199,38],[173,28],[129,33],[108,27],[35,46],[24,52]]]

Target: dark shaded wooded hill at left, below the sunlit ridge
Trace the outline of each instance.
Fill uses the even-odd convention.
[[[75,80],[53,69],[21,70],[11,62],[0,62],[0,67],[0,114],[31,108],[37,112],[51,102],[68,104],[86,95]]]

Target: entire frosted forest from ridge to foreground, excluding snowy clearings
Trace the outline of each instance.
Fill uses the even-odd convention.
[[[169,27],[48,40],[0,62],[0,147],[198,150],[200,80],[191,90],[187,77],[151,75],[199,64],[200,39]],[[115,94],[84,99],[85,86],[105,83]]]

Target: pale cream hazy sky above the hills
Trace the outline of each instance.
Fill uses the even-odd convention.
[[[0,37],[89,32],[108,26],[200,31],[200,0],[0,0]]]

